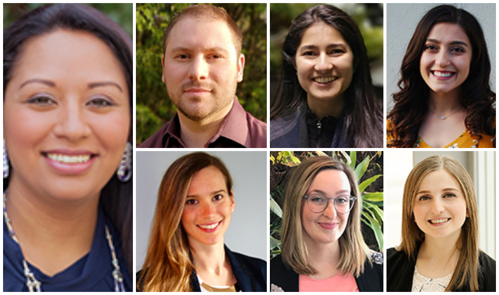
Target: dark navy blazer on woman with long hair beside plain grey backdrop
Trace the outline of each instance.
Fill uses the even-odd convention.
[[[266,292],[267,291],[267,262],[259,258],[253,258],[239,253],[234,253],[225,246],[225,253],[229,257],[232,273],[237,280],[237,286],[243,292]],[[137,272],[137,280],[142,270]],[[192,290],[201,292],[198,275],[192,271],[190,275]],[[140,292],[142,288],[137,287]]]

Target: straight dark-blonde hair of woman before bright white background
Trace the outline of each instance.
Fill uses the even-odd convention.
[[[469,284],[471,291],[478,291],[478,205],[473,181],[466,169],[454,158],[447,155],[431,156],[414,166],[407,177],[404,187],[402,207],[402,243],[400,251],[404,251],[410,259],[417,258],[418,245],[425,240],[424,232],[414,222],[412,205],[418,193],[423,178],[428,173],[444,169],[451,173],[459,183],[464,199],[468,217],[461,228],[459,240],[456,243],[460,250],[456,270],[446,291],[459,289]]]

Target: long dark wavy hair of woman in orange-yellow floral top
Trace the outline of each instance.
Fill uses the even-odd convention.
[[[461,26],[472,43],[472,62],[466,80],[461,84],[462,104],[466,109],[464,124],[468,132],[495,137],[495,93],[490,89],[490,59],[482,27],[478,20],[464,9],[440,5],[428,11],[421,19],[402,60],[400,91],[393,94],[395,106],[387,119],[387,133],[394,138],[389,147],[412,147],[428,110],[429,90],[420,73],[420,60],[426,38],[437,23],[455,23]],[[495,139],[494,139],[495,145]]]

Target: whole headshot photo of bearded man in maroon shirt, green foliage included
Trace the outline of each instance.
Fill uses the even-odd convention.
[[[137,4],[137,147],[267,147],[266,4]]]

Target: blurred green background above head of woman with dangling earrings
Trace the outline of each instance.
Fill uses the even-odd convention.
[[[46,3],[5,3],[4,28],[21,15]],[[132,38],[133,35],[133,3],[89,3],[118,23]]]

